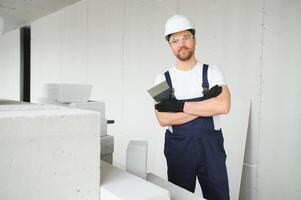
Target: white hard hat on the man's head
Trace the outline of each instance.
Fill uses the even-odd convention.
[[[174,15],[170,17],[165,24],[165,37],[172,33],[194,29],[190,21],[183,15]]]

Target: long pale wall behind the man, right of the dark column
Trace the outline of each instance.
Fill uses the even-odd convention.
[[[300,4],[84,0],[32,23],[32,99],[46,82],[92,83],[92,99],[116,120],[115,164],[124,165],[130,139],[146,139],[148,169],[166,177],[164,129],[146,90],[174,62],[163,29],[182,13],[196,26],[198,58],[221,67],[233,98],[252,100],[240,199],[297,199]]]

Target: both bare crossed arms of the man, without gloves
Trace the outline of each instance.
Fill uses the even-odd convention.
[[[222,93],[204,101],[185,102],[183,112],[156,112],[161,126],[180,125],[192,121],[199,116],[208,117],[227,114],[231,107],[231,95],[226,85],[222,86]]]

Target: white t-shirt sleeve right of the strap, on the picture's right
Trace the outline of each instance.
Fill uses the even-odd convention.
[[[209,82],[210,88],[215,85],[226,85],[224,74],[218,66],[216,66],[216,65],[209,66],[208,82]]]

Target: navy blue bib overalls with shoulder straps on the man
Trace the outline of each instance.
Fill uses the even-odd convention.
[[[203,93],[209,89],[207,71],[208,65],[204,65]],[[169,72],[164,75],[173,89]],[[202,97],[186,101],[202,101]],[[172,129],[173,133],[166,130],[164,145],[168,180],[194,192],[198,177],[204,198],[230,199],[224,138],[221,130],[214,129],[213,118],[198,117]]]

